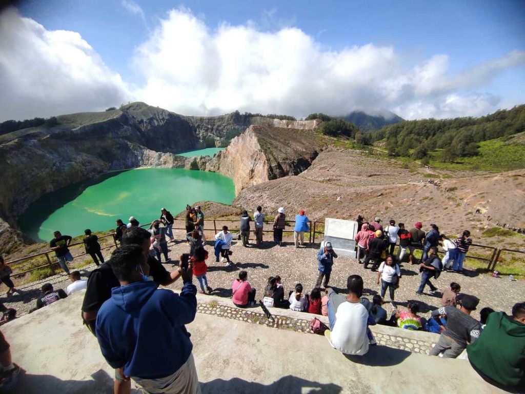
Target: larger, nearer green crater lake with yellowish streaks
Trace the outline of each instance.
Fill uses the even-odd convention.
[[[165,207],[173,215],[197,201],[232,203],[231,178],[214,172],[172,168],[143,168],[101,175],[87,182],[46,194],[29,206],[18,225],[37,241],[49,241],[53,232],[81,235],[85,229],[114,229],[115,221],[141,224],[160,216]],[[205,212],[206,214],[206,212]]]

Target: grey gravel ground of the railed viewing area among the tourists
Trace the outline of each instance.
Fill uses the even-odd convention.
[[[293,242],[286,242],[285,246],[275,246],[272,242],[264,242],[262,247],[255,246],[243,247],[240,242],[232,246],[233,266],[227,267],[226,264],[215,262],[213,245],[208,243],[206,249],[209,252],[208,264],[208,283],[214,288],[212,294],[230,297],[232,294],[232,281],[238,276],[241,269],[248,271],[248,281],[257,289],[257,299],[262,299],[262,292],[269,276],[280,275],[285,292],[292,289],[296,283],[302,283],[305,292],[310,292],[317,279],[317,248],[314,246],[304,246],[296,249]],[[170,257],[175,260],[181,253],[188,251],[185,243],[177,242],[170,244]],[[106,253],[109,255],[109,253]],[[165,267],[172,270],[173,265],[167,264]],[[95,268],[95,265],[83,267],[81,273],[87,276]],[[479,310],[482,307],[490,306],[495,310],[503,310],[510,313],[512,305],[522,302],[525,299],[525,282],[509,281],[506,278],[493,278],[488,274],[478,274],[474,271],[465,271],[465,275],[444,272],[439,279],[432,280],[440,291],[446,289],[451,281],[461,285],[461,292],[472,294],[480,298],[478,309],[473,316],[479,317]],[[418,266],[411,266],[408,263],[402,264],[403,277],[400,288],[396,291],[396,303],[406,306],[408,300],[416,299],[421,305],[423,316],[428,316],[429,311],[440,306],[440,295],[431,296],[428,293],[418,296],[415,291],[419,285],[421,276]],[[376,284],[377,274],[369,269],[364,269],[362,264],[358,264],[354,258],[340,256],[335,259],[333,265],[330,285],[336,291],[345,292],[346,278],[351,274],[359,274],[364,279],[365,295],[373,296],[380,291],[380,286]],[[18,310],[19,315],[30,312],[36,306],[36,298],[39,295],[39,288],[43,283],[53,283],[55,288],[66,288],[69,278],[64,274],[59,274],[44,281],[34,282],[20,287],[23,294],[15,294],[9,298],[5,293],[0,297],[6,307]],[[194,283],[198,287],[196,279]],[[16,284],[16,281],[15,281]],[[176,282],[172,288],[180,288],[181,282]],[[425,289],[428,291],[428,287]],[[388,302],[388,292],[385,296]],[[392,310],[390,304],[385,304],[388,312]]]

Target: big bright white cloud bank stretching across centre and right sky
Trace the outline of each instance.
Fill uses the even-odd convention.
[[[293,27],[265,32],[248,22],[212,30],[180,8],[139,46],[134,64],[145,85],[135,95],[192,115],[235,109],[296,116],[394,109],[408,119],[477,116],[495,110],[500,99],[476,89],[500,71],[524,64],[525,52],[516,50],[455,75],[447,55],[408,70],[399,60],[391,46],[325,50]]]

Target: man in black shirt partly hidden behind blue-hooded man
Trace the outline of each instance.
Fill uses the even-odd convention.
[[[158,285],[168,286],[179,277],[178,269],[171,273],[153,256],[149,254],[151,233],[142,227],[133,226],[122,236],[122,245],[139,245],[145,256],[148,256],[150,276]],[[111,289],[120,286],[117,277],[113,274],[111,265],[106,262],[91,271],[86,286],[86,294],[82,303],[82,319],[92,334],[95,334],[95,319],[98,310],[109,297]]]

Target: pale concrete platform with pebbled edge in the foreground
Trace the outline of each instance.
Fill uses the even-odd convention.
[[[14,392],[112,392],[114,372],[82,325],[83,294],[2,327],[13,361],[26,371]],[[503,392],[481,379],[467,360],[414,351],[416,345],[419,353],[428,351],[437,338],[433,334],[374,326],[379,345],[349,360],[323,336],[298,332],[312,315],[272,308],[279,316],[270,324],[260,308],[240,310],[225,298],[199,295],[198,304],[187,328],[203,393]],[[284,329],[269,327],[274,324]],[[402,343],[411,351],[395,348]]]

